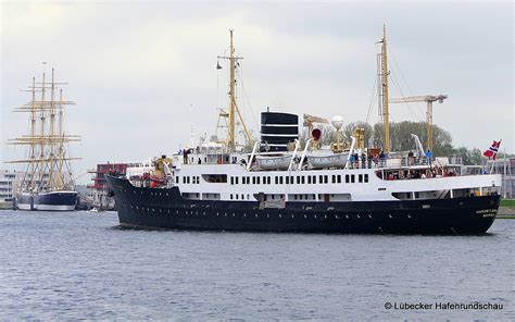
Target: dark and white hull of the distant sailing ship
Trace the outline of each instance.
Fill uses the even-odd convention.
[[[21,210],[72,211],[75,210],[77,196],[77,191],[20,194],[16,196],[16,206]]]

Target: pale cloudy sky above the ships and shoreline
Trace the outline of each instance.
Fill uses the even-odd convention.
[[[378,122],[377,41],[387,26],[390,97],[449,95],[434,122],[456,147],[502,139],[515,152],[511,2],[1,1],[0,162],[28,131],[33,76],[66,82],[66,133],[78,182],[97,163],[173,153],[216,129],[227,108],[229,29],[241,60],[238,99],[260,113]],[[46,65],[42,62],[47,62]],[[372,103],[370,103],[372,102]],[[372,106],[372,110],[370,109]],[[392,104],[391,121],[424,121],[425,103]],[[219,133],[221,134],[221,133]],[[0,169],[20,169],[2,163]]]

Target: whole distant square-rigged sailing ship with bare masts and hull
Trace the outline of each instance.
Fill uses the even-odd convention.
[[[33,77],[28,91],[32,99],[14,112],[29,115],[27,135],[10,139],[8,144],[27,146],[27,158],[10,161],[22,163],[25,172],[15,197],[15,206],[21,210],[74,210],[78,193],[74,189],[74,177],[67,144],[79,141],[77,135],[70,135],[64,127],[64,109],[74,104],[63,97],[62,85],[55,82],[52,69],[51,79],[42,74],[41,82]]]

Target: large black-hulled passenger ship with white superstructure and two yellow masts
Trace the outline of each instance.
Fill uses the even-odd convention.
[[[181,153],[155,158],[149,166],[127,169],[124,176],[106,175],[120,224],[235,232],[486,233],[498,212],[501,176],[462,175],[460,160],[432,158],[416,135],[407,138],[414,152],[391,151],[386,30],[378,57],[381,147],[367,147],[363,128],[344,138],[341,116],[329,121],[304,114],[307,137],[302,138],[299,115],[269,110],[261,114],[261,137],[254,141],[237,102],[240,58],[230,32],[229,54],[219,57],[229,62],[226,140],[200,141]],[[321,146],[314,123],[334,126],[330,147]],[[238,124],[247,149],[237,143]],[[431,145],[428,137],[427,150]]]

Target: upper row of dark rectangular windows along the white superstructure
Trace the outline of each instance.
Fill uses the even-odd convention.
[[[346,184],[353,184],[356,183],[356,176],[357,176],[357,183],[368,183],[368,174],[346,174],[344,175],[344,182]],[[179,176],[176,177],[177,183],[180,182]],[[231,176],[230,177],[230,184],[231,185],[238,185],[240,182],[239,176]],[[241,177],[241,184],[243,185],[261,185],[261,182],[263,182],[264,185],[271,185],[272,184],[272,177],[271,176],[242,176]],[[200,176],[183,176],[183,184],[200,184]],[[329,183],[329,175],[299,175],[299,176],[274,176],[274,183],[276,185],[316,185],[318,184],[328,184]],[[332,184],[341,184],[342,183],[342,175],[340,174],[332,174],[330,175],[330,183]]]

